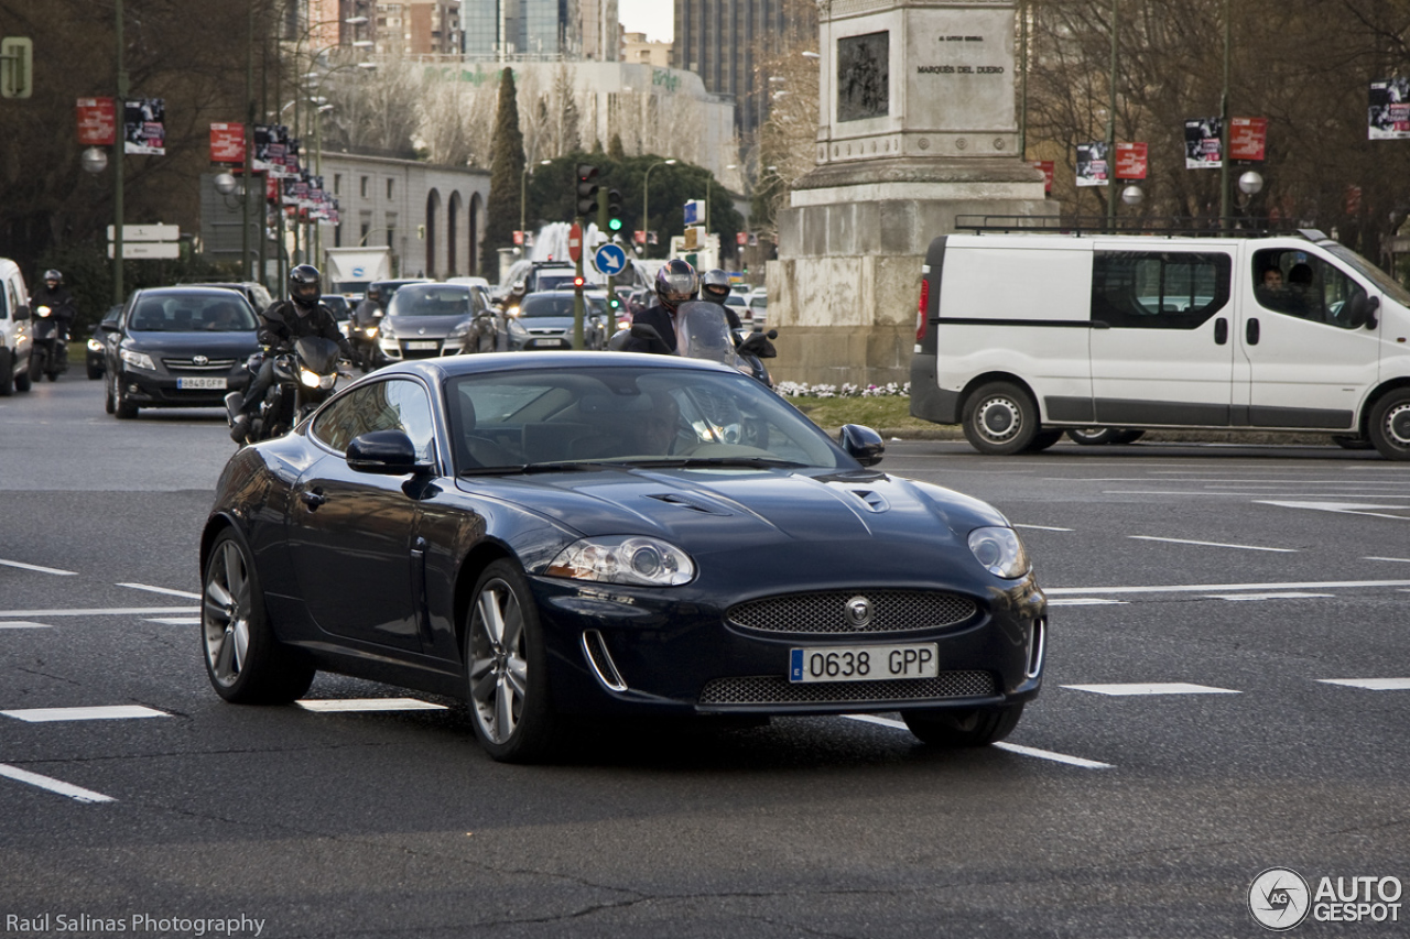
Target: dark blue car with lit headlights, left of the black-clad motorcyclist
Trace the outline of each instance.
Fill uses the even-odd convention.
[[[223,407],[250,383],[244,365],[259,351],[254,307],[223,288],[134,290],[100,330],[104,409],[123,420],[141,407]]]

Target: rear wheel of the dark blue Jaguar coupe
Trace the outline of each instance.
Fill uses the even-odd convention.
[[[302,698],[316,670],[275,639],[255,565],[234,532],[216,537],[203,584],[202,647],[216,694],[231,704]]]

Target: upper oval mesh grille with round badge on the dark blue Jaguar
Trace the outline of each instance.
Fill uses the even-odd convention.
[[[860,626],[847,615],[856,599],[866,599],[871,609],[870,622]],[[763,633],[818,636],[921,632],[963,623],[976,610],[967,596],[940,591],[856,589],[766,596],[730,606],[725,616]]]

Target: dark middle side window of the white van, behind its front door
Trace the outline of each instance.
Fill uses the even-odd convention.
[[[1091,319],[1112,329],[1193,330],[1228,303],[1232,269],[1227,254],[1097,251]]]

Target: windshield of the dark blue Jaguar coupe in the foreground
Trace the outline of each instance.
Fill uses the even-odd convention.
[[[859,468],[798,410],[737,372],[479,372],[451,378],[446,402],[457,470],[468,475],[596,464]]]

